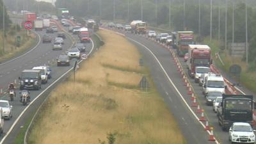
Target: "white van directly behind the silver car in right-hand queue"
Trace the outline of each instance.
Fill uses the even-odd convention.
[[[220,74],[208,74],[205,77],[203,93],[206,95],[208,92],[225,93],[225,82]]]

